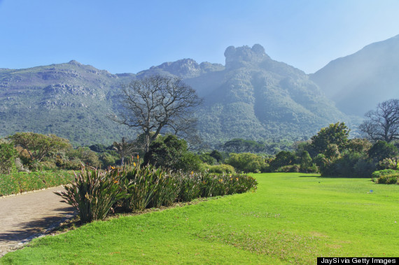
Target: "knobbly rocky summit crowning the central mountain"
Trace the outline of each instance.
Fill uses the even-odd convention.
[[[229,46],[225,50],[226,57],[226,68],[230,66],[237,66],[240,62],[261,62],[270,57],[266,54],[265,48],[260,44],[255,44],[252,48],[249,46],[241,46],[235,48],[234,46]]]

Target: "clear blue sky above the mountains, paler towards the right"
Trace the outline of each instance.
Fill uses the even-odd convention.
[[[225,63],[230,45],[262,45],[314,73],[399,34],[398,0],[0,0],[0,68],[71,59],[137,73],[192,58]]]

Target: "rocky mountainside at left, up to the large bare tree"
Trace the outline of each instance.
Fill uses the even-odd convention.
[[[31,69],[0,70],[0,136],[34,131],[74,144],[112,143],[125,132],[106,118],[117,106],[120,83],[112,75],[76,61]]]

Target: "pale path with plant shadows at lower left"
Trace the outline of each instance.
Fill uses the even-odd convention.
[[[62,187],[0,197],[0,257],[72,217],[73,208],[53,193],[59,190]]]

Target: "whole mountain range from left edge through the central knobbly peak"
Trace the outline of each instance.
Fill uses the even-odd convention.
[[[232,138],[301,140],[332,122],[350,124],[309,76],[274,61],[261,45],[230,46],[225,58],[225,66],[181,59],[137,74],[113,75],[76,61],[0,69],[0,136],[34,131],[85,145],[134,136],[107,115],[118,113],[122,84],[152,74],[179,76],[204,98],[197,129],[211,145]]]

